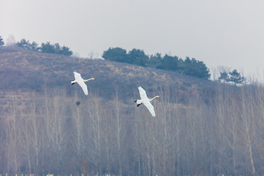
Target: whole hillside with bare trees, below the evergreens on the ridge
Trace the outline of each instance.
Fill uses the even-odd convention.
[[[264,87],[254,80],[230,85],[12,48],[0,58],[2,175],[264,173]],[[88,96],[70,84],[73,68],[95,77]],[[160,96],[156,117],[136,107],[137,86]]]

